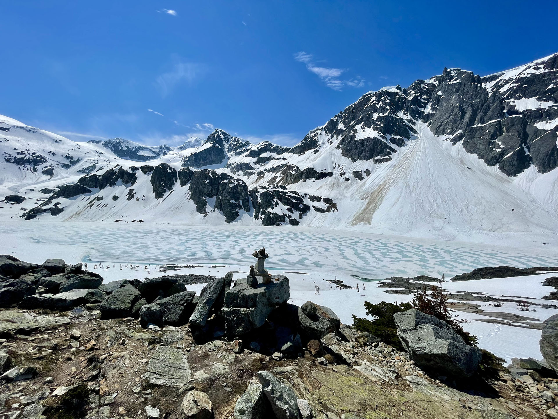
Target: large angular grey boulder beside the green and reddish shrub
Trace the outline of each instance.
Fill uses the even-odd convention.
[[[395,313],[393,320],[403,347],[421,369],[453,378],[477,371],[480,349],[465,344],[448,323],[415,308]]]

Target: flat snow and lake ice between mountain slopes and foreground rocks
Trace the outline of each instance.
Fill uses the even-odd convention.
[[[105,283],[163,274],[218,276],[231,270],[235,272],[234,279],[242,279],[254,263],[252,251],[264,245],[270,254],[266,266],[273,274],[290,279],[291,303],[300,305],[311,300],[324,304],[344,323],[351,323],[353,314],[365,315],[365,301],[412,299],[412,294],[391,294],[385,292],[387,288],[377,288],[378,279],[395,275],[439,278],[442,274],[449,279],[481,266],[558,265],[555,247],[507,247],[314,228],[7,221],[0,224],[0,235],[2,254],[33,263],[42,263],[47,258],[64,258],[66,263],[86,261],[88,268],[100,273]],[[95,270],[96,264],[102,264],[103,268]],[[163,264],[199,267],[161,272]],[[533,304],[530,312],[518,310],[517,303],[505,302],[502,307],[494,307],[489,305],[493,303],[472,301],[485,315],[461,309],[456,313],[469,321],[464,328],[479,337],[480,347],[507,361],[529,356],[540,359],[541,322],[558,313],[554,301],[541,300],[554,291],[543,287],[541,282],[555,275],[445,282],[442,287],[452,293],[527,299]],[[328,282],[335,279],[354,288],[339,289]],[[189,291],[198,293],[201,288],[203,284],[188,287]],[[546,307],[541,307],[542,304]],[[519,321],[502,322],[501,317],[506,318],[506,313],[522,317],[518,317]]]

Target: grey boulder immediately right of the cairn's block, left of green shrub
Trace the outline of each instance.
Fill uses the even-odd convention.
[[[330,333],[338,333],[339,317],[328,307],[307,301],[299,308],[300,335],[303,342],[320,340]]]

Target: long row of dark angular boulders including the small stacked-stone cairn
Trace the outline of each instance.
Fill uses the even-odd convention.
[[[0,256],[0,308],[68,311],[85,306],[99,310],[102,320],[139,318],[144,328],[189,323],[198,342],[226,335],[235,342],[235,352],[242,352],[244,346],[274,359],[296,358],[309,341],[340,335],[340,320],[333,311],[310,301],[302,307],[288,304],[288,278],[268,273],[263,247],[254,255],[256,268],[251,266],[247,278],[235,282],[229,272],[223,278],[166,275],[105,284],[81,264],[49,259],[36,265],[4,255]],[[187,284],[204,282],[199,296],[186,289]]]

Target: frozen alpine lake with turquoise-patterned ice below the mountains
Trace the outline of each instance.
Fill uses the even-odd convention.
[[[277,269],[383,279],[393,275],[450,278],[481,266],[555,266],[556,249],[305,227],[169,226],[102,222],[3,222],[0,251],[41,263],[45,258],[114,263],[251,265],[265,246]]]

